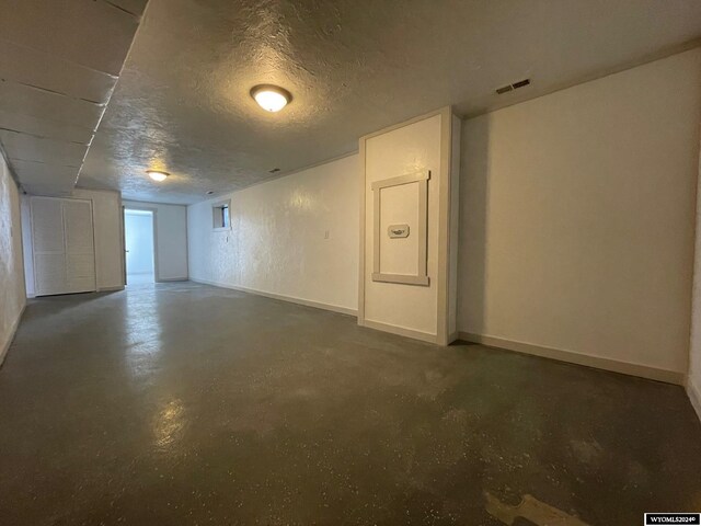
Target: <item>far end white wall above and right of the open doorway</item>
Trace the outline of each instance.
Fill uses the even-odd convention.
[[[156,279],[159,282],[187,279],[187,207],[125,201],[131,209],[154,211]]]

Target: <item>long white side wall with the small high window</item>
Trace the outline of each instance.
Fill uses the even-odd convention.
[[[212,231],[211,205],[227,198],[232,228]],[[350,156],[192,205],[191,279],[354,311],[358,198]]]

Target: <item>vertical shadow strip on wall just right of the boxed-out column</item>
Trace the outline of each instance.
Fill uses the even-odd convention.
[[[484,334],[491,121],[490,114],[472,119],[469,134],[464,122],[462,127],[458,327],[473,334]]]

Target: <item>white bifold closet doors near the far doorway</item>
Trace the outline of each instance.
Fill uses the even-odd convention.
[[[95,290],[92,203],[32,197],[36,295]]]

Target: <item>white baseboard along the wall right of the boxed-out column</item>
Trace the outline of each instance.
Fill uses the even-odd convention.
[[[563,351],[561,348],[543,347],[531,343],[515,342],[512,340],[472,334],[469,332],[460,332],[460,339],[467,342],[480,343],[490,347],[506,348],[517,353],[532,354],[544,358],[558,359],[560,362],[584,365],[586,367],[594,367],[597,369],[611,370],[623,375],[648,378],[651,380],[665,381],[667,384],[676,384],[678,386],[683,386],[686,380],[686,375],[683,375],[683,373],[677,373],[676,370],[658,369],[647,365],[601,358],[599,356]]]

